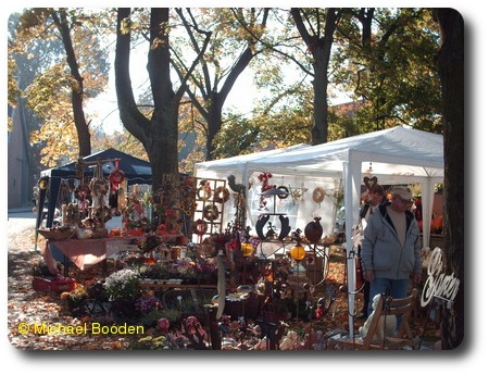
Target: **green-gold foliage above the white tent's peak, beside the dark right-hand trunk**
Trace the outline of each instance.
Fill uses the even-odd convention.
[[[358,125],[363,132],[400,124],[439,132],[438,35],[429,12],[375,9],[367,22],[365,9],[350,11],[353,16],[340,25],[330,79],[365,99]]]

